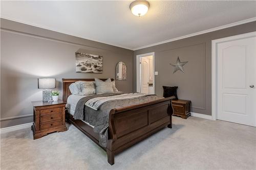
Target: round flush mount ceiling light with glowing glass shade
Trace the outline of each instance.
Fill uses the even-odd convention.
[[[130,5],[132,13],[136,16],[145,15],[148,8],[150,8],[150,3],[147,1],[134,1]]]

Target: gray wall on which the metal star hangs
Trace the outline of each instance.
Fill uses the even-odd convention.
[[[170,28],[172,29],[172,28]],[[215,32],[155,45],[134,53],[134,89],[136,89],[136,55],[155,52],[155,92],[163,94],[162,86],[179,86],[178,97],[191,100],[193,112],[211,115],[211,40],[256,31],[256,21]],[[184,65],[183,74],[169,63],[177,56]]]

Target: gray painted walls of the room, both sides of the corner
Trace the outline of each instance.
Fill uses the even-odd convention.
[[[121,91],[136,90],[136,55],[155,52],[156,93],[162,85],[179,86],[180,99],[192,101],[192,111],[211,114],[211,40],[256,31],[256,22],[227,28],[135,52],[75,36],[1,19],[1,128],[32,122],[31,101],[41,100],[37,78],[114,78],[118,61],[127,64],[127,80],[117,81]],[[75,72],[75,52],[82,48],[103,56],[103,74]],[[185,73],[173,74],[177,56],[188,61]],[[133,76],[134,75],[134,76]],[[61,94],[62,95],[62,94]]]

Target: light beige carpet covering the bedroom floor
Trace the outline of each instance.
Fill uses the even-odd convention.
[[[33,140],[30,129],[1,134],[1,169],[256,169],[256,128],[174,117],[164,128],[115,156],[74,126]]]

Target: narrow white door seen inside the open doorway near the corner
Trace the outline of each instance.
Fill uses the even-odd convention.
[[[148,68],[149,60],[141,57],[141,93],[148,94]]]

